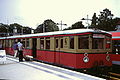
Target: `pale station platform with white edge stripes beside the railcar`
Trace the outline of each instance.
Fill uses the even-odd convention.
[[[36,61],[19,62],[7,55],[0,63],[0,80],[105,80]]]

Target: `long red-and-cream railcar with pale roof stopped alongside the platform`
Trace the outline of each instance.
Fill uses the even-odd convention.
[[[21,39],[24,55],[75,69],[111,66],[111,34],[101,30],[75,29],[0,38],[6,52],[13,55],[12,44]]]

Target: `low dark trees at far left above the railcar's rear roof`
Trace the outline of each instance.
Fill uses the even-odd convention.
[[[22,26],[18,23],[10,25],[0,23],[1,36],[12,36],[14,34],[14,29],[17,29],[16,34],[31,34],[31,28],[27,26]]]

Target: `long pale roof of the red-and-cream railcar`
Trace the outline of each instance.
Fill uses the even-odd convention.
[[[64,34],[79,34],[79,33],[86,33],[86,32],[110,34],[109,32],[106,32],[106,31],[103,31],[103,30],[73,29],[73,30],[65,30],[65,31],[55,31],[55,32],[45,32],[45,33],[36,33],[36,34],[27,34],[27,35],[17,35],[17,36],[1,37],[0,39],[37,37],[37,36],[50,36],[50,35],[64,35]]]

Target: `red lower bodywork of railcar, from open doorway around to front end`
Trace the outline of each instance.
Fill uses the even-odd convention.
[[[89,62],[87,63],[83,61],[84,57],[84,54],[37,50],[36,59],[76,69],[112,65],[111,59],[106,59],[107,54],[88,54]]]

